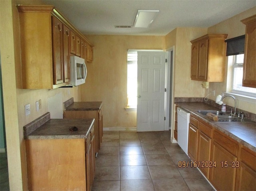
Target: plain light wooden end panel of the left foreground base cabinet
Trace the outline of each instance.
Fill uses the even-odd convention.
[[[34,139],[25,143],[28,190],[85,190],[84,139]]]

